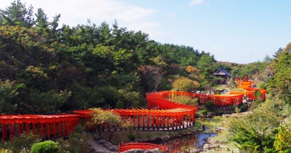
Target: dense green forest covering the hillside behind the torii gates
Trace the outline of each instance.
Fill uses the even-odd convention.
[[[57,113],[90,107],[138,107],[146,92],[170,90],[186,77],[215,85],[215,70],[260,74],[270,58],[247,65],[209,52],[161,44],[115,21],[70,27],[17,0],[0,10],[0,113]],[[185,68],[197,68],[197,73]],[[208,76],[210,78],[208,79]]]

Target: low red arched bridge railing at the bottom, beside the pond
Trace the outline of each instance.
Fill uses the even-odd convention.
[[[142,150],[148,150],[148,149],[159,149],[163,152],[166,152],[167,145],[157,145],[152,143],[123,143],[121,142],[121,145],[118,145],[118,153],[122,153],[125,151],[128,151],[130,149],[142,149]]]

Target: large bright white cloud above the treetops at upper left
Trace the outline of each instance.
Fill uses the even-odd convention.
[[[0,0],[0,8],[4,9],[13,0]],[[76,26],[87,23],[87,18],[97,25],[106,21],[117,20],[120,26],[129,30],[142,30],[145,33],[162,33],[158,30],[160,23],[149,21],[158,11],[136,5],[127,5],[121,0],[22,0],[26,5],[42,8],[49,19],[61,14],[60,25]],[[149,33],[151,35],[151,33]]]

